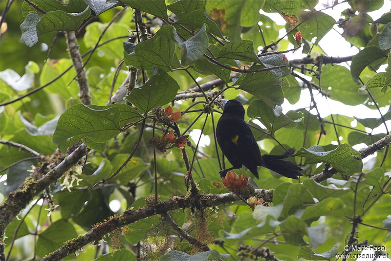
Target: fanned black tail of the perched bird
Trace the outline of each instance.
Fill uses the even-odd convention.
[[[297,176],[302,176],[300,172],[302,171],[297,165],[290,161],[282,160],[284,158],[288,158],[295,153],[295,149],[289,149],[283,155],[262,155],[262,159],[264,162],[263,167],[268,168],[271,171],[277,172],[280,175],[285,177],[299,179]]]

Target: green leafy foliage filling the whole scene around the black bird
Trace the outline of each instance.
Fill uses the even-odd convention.
[[[4,255],[1,258],[9,255],[9,260],[42,259],[65,244],[57,254],[66,256],[66,260],[136,260],[136,257],[159,260],[170,249],[181,251],[171,251],[161,258],[173,260],[175,255],[185,256],[183,252],[195,254],[209,248],[220,254],[230,254],[229,258],[219,256],[228,260],[254,260],[256,256],[266,260],[301,259],[298,255],[307,260],[335,260],[335,254],[342,253],[346,244],[363,244],[365,240],[376,246],[390,243],[391,160],[387,156],[390,143],[387,129],[390,121],[387,120],[391,119],[391,112],[379,112],[390,108],[390,90],[387,89],[391,76],[387,66],[390,63],[391,16],[387,13],[373,21],[367,14],[381,8],[382,0],[347,1],[349,8],[341,14],[340,21],[319,11],[318,7],[316,11],[317,1],[306,0],[179,0],[176,3],[153,0],[146,1],[147,4],[122,0],[124,6],[115,0],[107,3],[71,0],[68,4],[58,3],[57,7],[56,4],[52,6],[53,1],[49,2],[0,2],[0,10],[6,11],[3,23],[6,22],[8,27],[0,35],[0,103],[43,86],[72,65],[65,42],[65,38],[70,41],[71,36],[63,31],[77,31],[82,54],[91,50],[101,36],[100,43],[118,39],[92,53],[84,67],[87,89],[80,81],[82,76],[72,80],[76,73],[71,68],[47,87],[0,107],[0,140],[3,142],[0,145],[0,170],[5,169],[0,172],[0,225],[4,233],[1,246],[5,247],[0,249]],[[331,4],[324,8],[331,8]],[[8,5],[11,6],[9,10]],[[127,5],[130,7],[124,10]],[[43,12],[39,9],[47,12],[47,20],[41,18]],[[142,15],[137,28],[135,9],[141,10],[136,20]],[[287,21],[287,37],[279,39],[278,31],[283,26],[260,15],[259,9],[282,15]],[[80,15],[75,17],[76,13]],[[40,22],[27,23],[29,30],[20,41],[20,25],[26,18],[37,17]],[[169,22],[169,17],[177,22],[173,27],[162,26],[162,21]],[[51,25],[50,21],[57,18],[64,22]],[[343,37],[357,47],[356,55],[338,60],[331,57],[332,53],[325,54],[317,45],[333,26],[344,29]],[[148,35],[140,33],[141,43],[135,36],[140,28],[146,28],[148,32]],[[297,31],[303,36],[303,47],[295,50],[296,56],[302,53],[301,59],[286,61],[283,54],[271,54],[261,56],[259,60],[258,51],[286,51],[298,47],[291,36]],[[175,32],[191,39],[182,43],[183,39]],[[196,33],[194,37],[193,33]],[[39,39],[36,44],[32,42],[35,35]],[[315,36],[316,40],[313,39]],[[123,44],[128,38],[128,43]],[[262,49],[268,44],[271,48]],[[285,57],[292,52],[287,52]],[[220,65],[213,64],[211,59],[203,56],[204,53],[216,58]],[[71,55],[78,56],[77,53]],[[251,66],[253,63],[258,65]],[[235,85],[229,77],[236,73],[235,70],[241,73],[244,69],[279,65],[285,67],[274,69],[272,73],[244,72],[235,77]],[[381,65],[386,71],[379,70]],[[152,72],[155,66],[159,69]],[[22,79],[15,72],[24,75]],[[88,103],[83,96],[79,98],[79,93],[88,96],[89,91],[93,105],[106,105],[110,88],[114,86],[113,93],[118,94],[120,86],[127,83],[127,77],[133,80],[128,84],[128,105],[122,98],[113,98],[113,102],[121,104],[109,109],[87,108],[80,104]],[[222,81],[210,84],[217,78]],[[232,194],[229,198],[218,197],[229,190],[221,187],[218,175],[220,167],[211,114],[201,113],[195,121],[203,109],[202,103],[196,104],[191,108],[194,112],[184,114],[177,121],[182,135],[195,121],[189,132],[202,130],[211,141],[199,148],[199,134],[194,134],[186,146],[199,191],[193,187],[192,193],[187,194],[183,175],[188,168],[181,149],[174,147],[167,153],[157,150],[154,160],[154,150],[149,143],[153,135],[162,136],[167,125],[157,122],[156,130],[152,131],[157,114],[152,109],[165,108],[175,100],[171,104],[174,111],[185,111],[195,102],[205,101],[194,79],[200,85],[210,86],[205,90],[207,96],[215,97],[217,93],[213,91],[230,87],[223,92],[224,98],[237,98],[245,103],[246,120],[252,117],[259,120],[252,122],[253,125],[261,123],[258,130],[253,131],[261,141],[262,153],[283,153],[282,147],[297,149],[295,160],[304,169],[299,182],[264,168],[259,171],[260,180],[250,179],[252,186],[263,189],[257,190],[255,196],[263,196],[269,206],[257,206],[253,211]],[[148,84],[152,87],[149,88]],[[144,88],[138,89],[141,86]],[[132,87],[135,88],[130,91]],[[189,89],[193,91],[187,91]],[[305,101],[305,108],[301,107],[304,103],[300,100],[302,90],[313,94],[311,100]],[[143,98],[146,92],[150,95],[147,99]],[[121,97],[114,95],[118,96]],[[296,107],[279,114],[283,98]],[[366,119],[361,119],[359,110],[355,111],[354,118],[339,114],[321,118],[316,101],[322,99],[336,100],[348,106],[363,104],[379,111]],[[129,102],[137,110],[131,109]],[[217,105],[214,109],[220,110]],[[140,116],[144,112],[148,112],[146,125]],[[62,115],[60,120],[59,115]],[[219,113],[215,111],[213,115],[216,123]],[[357,122],[355,127],[351,126],[353,121]],[[74,128],[70,127],[71,123]],[[105,127],[108,124],[109,128]],[[127,124],[132,124],[131,128],[125,129]],[[176,125],[173,126],[175,129]],[[379,126],[385,127],[384,133],[373,132]],[[77,143],[80,139],[92,149],[83,171],[85,147]],[[378,140],[378,146],[371,147]],[[12,146],[10,142],[22,144],[30,151],[19,145]],[[72,146],[74,143],[77,146]],[[351,147],[357,144],[364,148],[361,155]],[[311,147],[316,145],[323,147]],[[71,149],[67,151],[67,147]],[[138,149],[133,155],[135,147]],[[196,147],[198,153],[195,153]],[[326,153],[322,154],[320,150]],[[376,156],[363,165],[360,157],[376,150]],[[68,159],[74,160],[71,163],[63,161],[63,153],[73,151],[77,153]],[[115,178],[102,188],[91,189],[95,183],[118,170],[130,155],[129,163]],[[219,155],[221,157],[221,151]],[[230,166],[229,162],[226,165]],[[51,171],[56,166],[60,167]],[[147,196],[154,194],[155,170],[157,193],[163,201],[159,205],[161,208],[153,202],[153,197],[146,200]],[[235,172],[251,176],[244,168]],[[205,196],[207,193],[215,194],[216,201]],[[172,196],[178,196],[179,209],[169,204],[175,199],[169,199]],[[119,208],[115,209],[115,203]],[[130,210],[126,211],[128,208]],[[143,210],[153,213],[145,218],[140,214]],[[132,219],[134,217],[136,219]],[[173,229],[175,225],[170,225],[169,220],[181,227],[179,232]],[[84,234],[91,227],[94,227],[90,231],[92,236],[86,239]],[[190,239],[189,243],[189,238],[180,240],[178,233],[185,238],[190,235],[195,241]],[[81,240],[71,240],[77,236],[81,236]],[[66,252],[67,248],[72,251]],[[312,251],[330,252],[320,257]],[[216,258],[217,252],[207,252],[197,259],[207,259],[209,254]]]

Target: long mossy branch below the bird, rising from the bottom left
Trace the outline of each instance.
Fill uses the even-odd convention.
[[[273,190],[256,189],[255,195],[262,197],[263,201],[271,202]],[[167,213],[175,209],[189,208],[193,206],[212,207],[230,204],[239,201],[239,197],[233,193],[225,194],[199,194],[197,197],[174,196],[166,201],[153,206],[147,206],[138,210],[127,210],[120,216],[113,216],[108,221],[95,225],[86,234],[71,239],[43,258],[43,261],[56,261],[65,258],[90,242],[102,239],[104,235],[122,226],[134,223],[140,219],[152,217],[156,214]]]

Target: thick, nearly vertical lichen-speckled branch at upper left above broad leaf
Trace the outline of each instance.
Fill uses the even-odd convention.
[[[72,59],[73,67],[76,70],[76,80],[80,90],[80,100],[84,105],[92,104],[91,93],[88,87],[88,79],[86,71],[83,68],[83,60],[77,44],[76,34],[73,31],[65,31],[66,45],[68,47],[69,56]]]

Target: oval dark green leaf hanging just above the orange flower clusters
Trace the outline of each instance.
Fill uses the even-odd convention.
[[[179,85],[174,78],[165,71],[157,69],[143,86],[134,88],[130,92],[127,100],[144,113],[147,113],[153,108],[171,102],[178,89]]]

